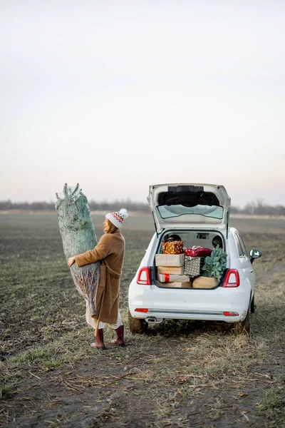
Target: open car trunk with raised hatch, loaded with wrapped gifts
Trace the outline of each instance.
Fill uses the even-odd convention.
[[[228,235],[231,200],[224,186],[206,183],[155,184],[150,185],[147,201],[155,220],[157,236],[158,231],[162,236],[155,255],[156,285],[190,289],[217,287],[220,281],[214,278],[206,280],[202,274],[204,258],[211,254],[216,245],[219,244],[224,252],[226,250],[223,237],[227,238]],[[175,258],[177,248],[172,250],[172,255],[170,251],[169,258],[161,254],[165,253],[162,241],[170,238],[172,233],[179,235],[176,240],[183,241],[180,258]],[[193,247],[208,251],[204,254],[188,251]]]

